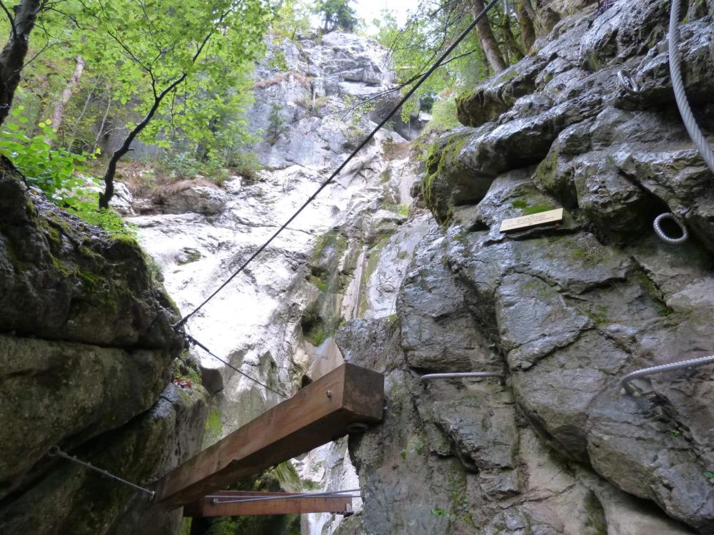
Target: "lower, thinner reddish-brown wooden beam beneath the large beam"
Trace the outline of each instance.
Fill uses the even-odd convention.
[[[211,496],[227,498],[272,498],[296,496],[291,492],[221,491]],[[236,504],[213,504],[213,498],[204,498],[183,507],[183,516],[262,516],[266,514],[308,514],[352,512],[352,498],[348,496],[303,496],[279,500],[246,501]]]

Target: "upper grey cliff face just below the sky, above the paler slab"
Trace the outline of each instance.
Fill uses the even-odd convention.
[[[246,115],[261,139],[258,158],[268,168],[336,167],[370,126],[362,113],[348,117],[353,101],[391,87],[386,50],[341,32],[269,49],[268,61],[256,68],[255,103]],[[273,66],[278,58],[288,70]],[[270,121],[273,110],[281,117],[280,128]]]

